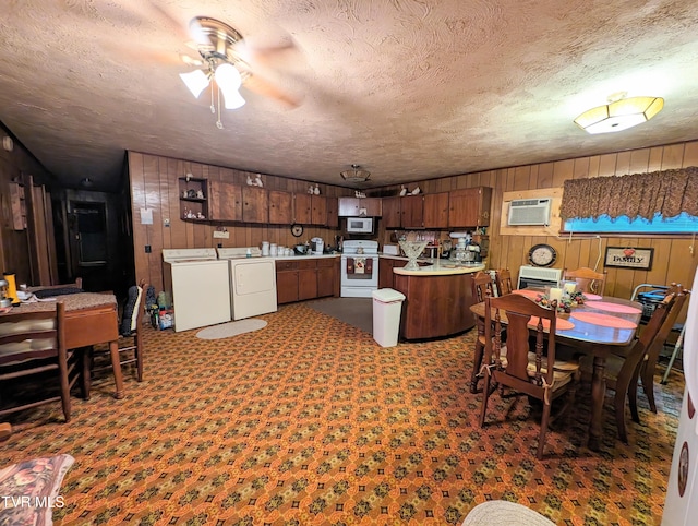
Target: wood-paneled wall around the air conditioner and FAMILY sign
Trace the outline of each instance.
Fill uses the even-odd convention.
[[[578,157],[555,163],[516,166],[497,170],[481,171],[461,176],[419,181],[424,193],[443,192],[469,187],[492,187],[492,223],[490,235],[489,268],[508,267],[518,278],[518,270],[528,263],[528,250],[535,243],[550,243],[557,250],[555,268],[577,268],[588,266],[603,271],[603,255],[606,247],[652,247],[654,261],[652,268],[633,271],[607,268],[606,292],[629,298],[637,285],[643,283],[669,284],[677,282],[686,287],[693,285],[698,262],[698,246],[688,236],[653,237],[578,237],[573,239],[550,235],[501,235],[501,215],[504,192],[559,188],[567,179],[601,176],[623,176],[672,168],[698,166],[698,141],[657,146],[651,148],[617,152],[606,155]],[[411,190],[417,183],[408,184]],[[399,186],[384,188],[382,195],[396,195]],[[378,193],[377,192],[377,193]],[[529,227],[530,228],[530,227]],[[387,242],[389,232],[380,232],[381,241]],[[445,237],[445,232],[442,237]],[[599,260],[599,254],[601,259]]]

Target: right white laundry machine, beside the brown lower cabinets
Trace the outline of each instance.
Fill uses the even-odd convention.
[[[233,320],[276,312],[276,263],[256,247],[217,249],[230,265],[230,311]]]

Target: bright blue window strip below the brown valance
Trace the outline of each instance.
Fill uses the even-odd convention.
[[[698,217],[682,212],[675,217],[663,218],[655,214],[652,219],[619,216],[615,219],[601,215],[592,217],[568,219],[563,224],[566,232],[582,234],[694,234],[698,232]]]

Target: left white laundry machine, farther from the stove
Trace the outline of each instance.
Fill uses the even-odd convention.
[[[231,320],[228,262],[217,259],[216,249],[164,249],[163,267],[176,332]]]

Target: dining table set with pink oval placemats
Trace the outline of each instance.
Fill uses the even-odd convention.
[[[537,301],[544,290],[525,288],[514,290]],[[470,308],[472,313],[484,320],[484,302]],[[585,292],[585,301],[571,307],[570,312],[559,312],[555,328],[557,347],[570,348],[576,355],[588,355],[593,358],[591,379],[591,421],[589,422],[589,449],[598,451],[603,430],[603,403],[605,398],[605,367],[611,354],[623,354],[623,350],[635,338],[642,316],[642,304],[625,298],[597,296]],[[502,323],[506,324],[506,315],[501,312]]]

